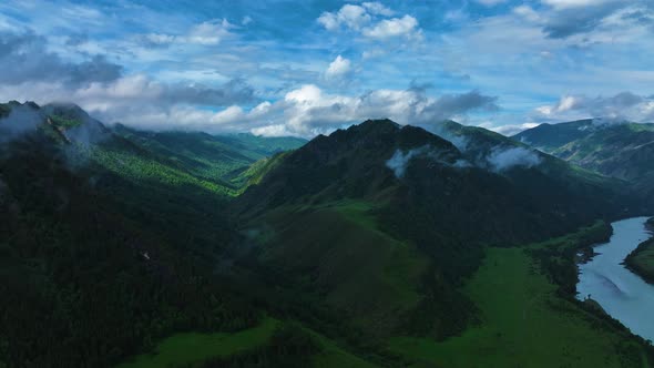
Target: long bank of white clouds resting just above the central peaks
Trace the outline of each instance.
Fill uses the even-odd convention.
[[[430,127],[450,117],[477,110],[498,109],[494,98],[477,91],[428,96],[423,91],[375,90],[360,95],[329,94],[314,84],[287,92],[283,99],[242,108],[249,92],[239,92],[242,82],[227,83],[223,92],[206,93],[164,84],[144,75],[123,78],[109,85],[92,84],[73,93],[52,90],[50,84],[24,85],[19,95],[43,96],[48,101],[75,101],[104,122],[121,122],[142,129],[201,130],[210,133],[251,131],[257,135],[311,137],[367,119],[389,117],[401,124]],[[247,91],[247,88],[245,89]],[[0,98],[14,95],[16,88],[0,85]],[[183,96],[184,99],[182,99]],[[210,99],[216,105],[201,109],[194,102]],[[224,105],[219,108],[218,105]]]

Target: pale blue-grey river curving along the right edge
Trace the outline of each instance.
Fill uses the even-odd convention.
[[[632,333],[654,341],[654,285],[626,269],[622,263],[638,244],[652,236],[645,229],[648,217],[634,217],[612,223],[609,243],[594,248],[590,262],[580,264],[578,298],[589,295],[613,318]]]

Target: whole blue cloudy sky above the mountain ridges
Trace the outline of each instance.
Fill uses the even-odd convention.
[[[0,101],[151,130],[654,121],[654,1],[0,3]]]

